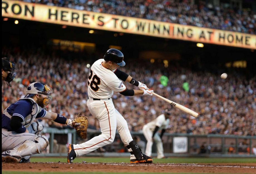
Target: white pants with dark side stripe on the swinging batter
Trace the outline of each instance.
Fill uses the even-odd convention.
[[[131,133],[126,120],[115,109],[112,98],[109,100],[93,100],[89,98],[87,106],[91,114],[99,120],[102,134],[93,137],[85,143],[74,145],[77,156],[82,156],[99,147],[111,144],[114,141],[116,130],[124,145],[129,145],[132,141]]]

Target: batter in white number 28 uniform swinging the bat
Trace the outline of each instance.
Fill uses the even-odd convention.
[[[127,122],[115,109],[112,102],[111,96],[114,91],[125,96],[152,96],[153,90],[117,69],[119,66],[125,66],[123,59],[124,55],[121,51],[109,49],[105,53],[104,59],[99,59],[93,63],[88,77],[87,106],[91,114],[99,120],[102,134],[82,144],[70,144],[68,163],[72,163],[77,156],[82,156],[112,143],[116,130],[131,153],[130,163],[152,163],[152,158],[142,154],[141,149],[132,139]],[[138,86],[140,90],[127,89],[120,79]]]

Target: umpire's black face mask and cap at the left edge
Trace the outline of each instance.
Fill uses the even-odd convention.
[[[15,70],[17,70],[17,66],[12,61],[9,61],[7,58],[2,58],[2,69],[4,71],[10,71],[8,73],[5,81],[8,86],[11,86],[10,82],[14,79],[15,74],[13,73]]]

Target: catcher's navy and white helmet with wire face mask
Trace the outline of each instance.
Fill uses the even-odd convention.
[[[50,94],[53,93],[52,89],[43,83],[35,82],[28,85],[28,88],[26,90],[27,95],[25,98],[29,98],[34,96],[35,94],[43,94],[47,95],[47,97],[44,99],[44,109],[46,109],[46,106],[49,104],[51,97]]]

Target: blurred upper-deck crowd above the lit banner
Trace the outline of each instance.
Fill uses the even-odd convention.
[[[77,10],[108,13],[198,27],[256,34],[256,14],[236,6],[190,0],[23,0]]]

